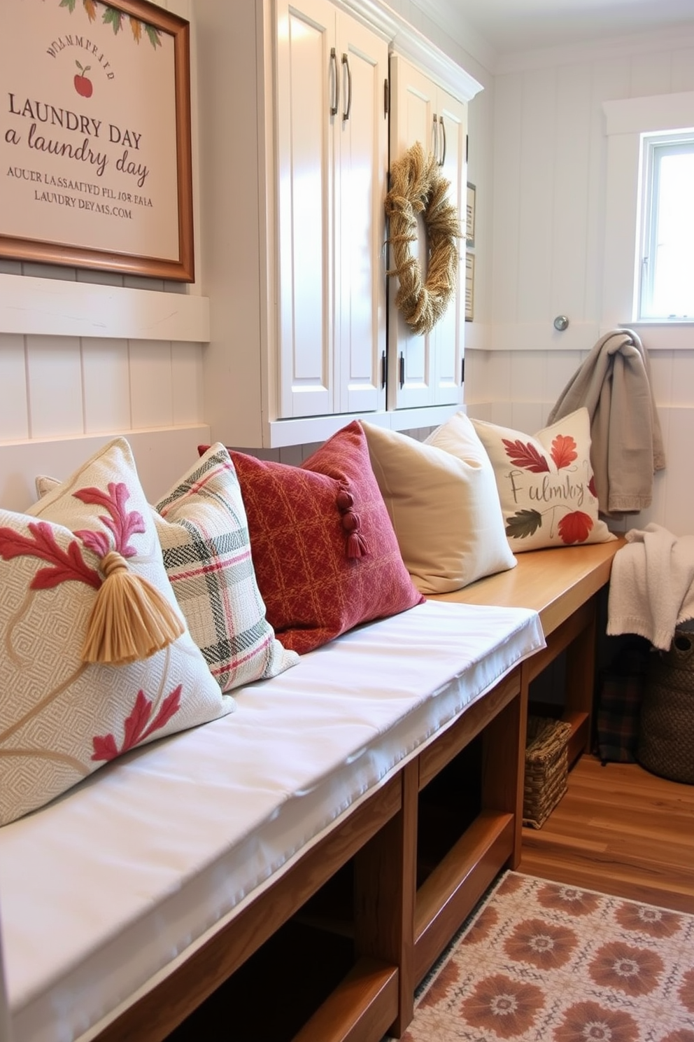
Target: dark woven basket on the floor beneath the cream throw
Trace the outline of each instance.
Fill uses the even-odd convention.
[[[694,632],[676,630],[669,651],[650,655],[637,759],[653,774],[694,785]]]

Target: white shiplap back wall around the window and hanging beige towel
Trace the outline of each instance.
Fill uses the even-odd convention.
[[[466,350],[471,415],[538,430],[605,331],[602,102],[692,90],[694,22],[689,38],[520,56],[516,68],[495,77],[493,123],[487,124],[493,126],[485,257],[490,281],[480,293],[475,287],[475,328]],[[471,116],[477,103],[470,103]],[[475,250],[485,251],[485,245]],[[554,328],[557,315],[569,318],[563,333]],[[656,521],[683,535],[694,531],[688,451],[694,439],[694,326],[679,337],[677,350],[657,327],[639,332],[651,358],[668,467],[657,475],[652,506],[625,526]]]

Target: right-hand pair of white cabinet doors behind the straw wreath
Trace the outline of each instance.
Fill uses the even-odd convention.
[[[466,197],[467,106],[442,90],[401,55],[390,58],[390,160],[402,156],[416,141],[433,152],[441,173],[451,181],[451,200],[462,216]],[[423,221],[412,245],[422,274],[427,271]],[[464,355],[464,257],[460,241],[458,292],[443,317],[427,336],[414,336],[394,305],[396,278],[390,287],[388,332],[389,407],[413,408],[461,402]]]

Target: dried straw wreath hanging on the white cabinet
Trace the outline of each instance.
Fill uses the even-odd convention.
[[[395,159],[390,169],[385,207],[395,267],[388,274],[397,275],[395,306],[417,334],[431,332],[456,293],[456,240],[462,235],[458,210],[446,198],[449,187],[435,156],[425,155],[419,142]],[[426,280],[419,262],[410,252],[410,243],[417,240],[417,214],[422,214],[427,229]]]

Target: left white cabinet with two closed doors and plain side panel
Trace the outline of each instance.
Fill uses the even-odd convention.
[[[196,29],[206,418],[322,440],[278,424],[386,404],[387,39],[330,0],[196,0]]]

